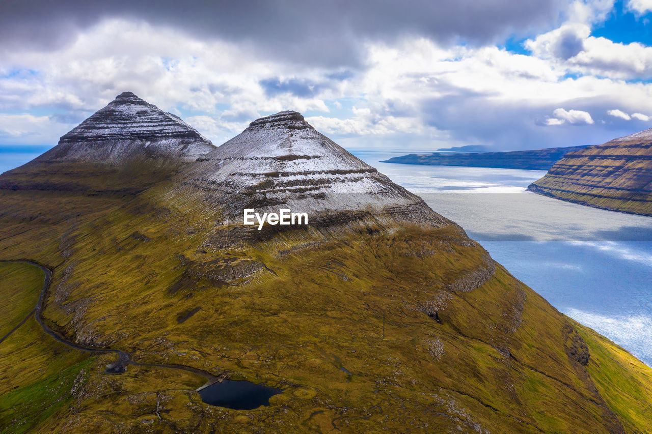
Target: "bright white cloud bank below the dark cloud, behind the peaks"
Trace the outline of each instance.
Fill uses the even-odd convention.
[[[171,25],[105,18],[61,48],[0,48],[0,110],[50,115],[52,138],[43,144],[122,91],[181,116],[216,144],[284,109],[303,112],[319,130],[356,148],[603,143],[637,125],[614,122],[608,110],[652,113],[652,85],[572,75],[590,36],[583,51],[564,59],[578,50],[564,35],[584,37],[585,26],[567,26],[546,44],[533,38],[541,42],[537,55],[411,33],[368,38],[349,67],[261,55],[253,39],[200,38]],[[5,135],[0,142],[23,139],[34,137]]]

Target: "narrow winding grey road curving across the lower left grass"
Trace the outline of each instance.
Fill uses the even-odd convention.
[[[97,348],[97,347],[88,347],[86,345],[79,345],[78,343],[74,343],[73,341],[67,340],[65,336],[60,334],[59,332],[55,332],[48,326],[44,321],[41,316],[42,310],[43,310],[43,304],[45,302],[45,296],[48,291],[48,287],[50,286],[50,281],[52,280],[52,270],[47,267],[43,267],[40,264],[37,264],[32,261],[27,261],[27,260],[17,260],[17,261],[1,261],[1,262],[6,262],[6,263],[23,263],[23,264],[29,264],[33,265],[34,267],[40,268],[42,272],[44,273],[44,279],[43,279],[43,287],[41,289],[40,297],[38,297],[38,302],[37,306],[33,310],[31,310],[27,316],[21,321],[17,326],[15,326],[10,332],[8,332],[7,335],[5,335],[1,340],[4,341],[5,339],[8,338],[12,332],[15,330],[18,330],[20,326],[29,319],[30,315],[34,314],[35,319],[37,320],[38,324],[43,328],[44,332],[52,336],[55,340],[68,345],[68,347],[72,347],[74,349],[78,349],[80,351],[86,351],[87,353],[101,353],[101,354],[108,354],[108,353],[113,353],[117,355],[117,360],[113,362],[112,364],[108,365],[106,368],[106,373],[123,373],[126,371],[126,366],[127,365],[132,365],[132,366],[143,366],[147,368],[166,368],[166,369],[179,369],[182,371],[187,371],[194,373],[196,375],[200,375],[201,377],[204,377],[207,380],[207,383],[201,386],[198,390],[204,388],[205,386],[208,386],[209,384],[213,384],[216,381],[223,379],[223,375],[213,375],[212,373],[209,373],[207,371],[202,371],[201,369],[196,369],[196,368],[190,368],[190,366],[183,366],[183,365],[175,365],[175,364],[156,364],[156,363],[145,363],[145,362],[135,362],[132,360],[131,356],[129,353],[126,351],[122,351],[119,349],[110,349],[110,348]]]

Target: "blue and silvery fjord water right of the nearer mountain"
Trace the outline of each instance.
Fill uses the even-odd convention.
[[[526,192],[545,171],[381,163],[559,311],[652,366],[652,217]]]

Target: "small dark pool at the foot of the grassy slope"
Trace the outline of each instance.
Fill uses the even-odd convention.
[[[223,380],[199,391],[201,400],[210,405],[234,410],[252,410],[269,405],[269,398],[283,390],[244,380]]]

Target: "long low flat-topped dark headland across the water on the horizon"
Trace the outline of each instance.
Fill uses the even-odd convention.
[[[455,154],[408,154],[392,157],[383,163],[427,164],[432,166],[495,167],[501,169],[548,170],[568,152],[586,146],[546,148],[509,152],[464,152]]]

